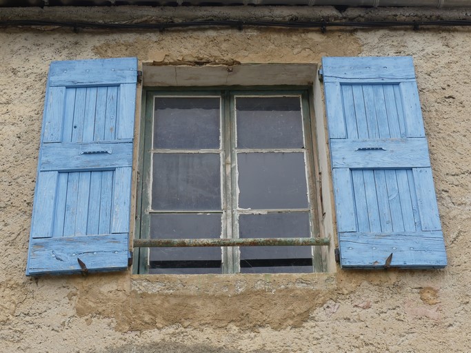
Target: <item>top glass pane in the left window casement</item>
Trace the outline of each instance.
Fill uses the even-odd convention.
[[[219,148],[219,97],[156,97],[154,148]]]

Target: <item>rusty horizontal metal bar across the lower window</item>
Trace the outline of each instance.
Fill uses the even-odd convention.
[[[328,238],[134,239],[134,248],[329,245]]]

